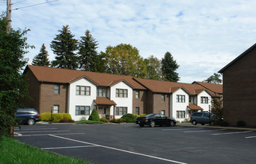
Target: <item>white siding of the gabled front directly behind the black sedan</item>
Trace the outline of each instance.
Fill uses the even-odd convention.
[[[176,100],[177,95],[185,95],[185,103],[177,102]],[[179,122],[182,122],[184,121],[184,119],[189,118],[189,111],[187,110],[187,106],[189,105],[189,94],[185,92],[183,89],[178,89],[176,92],[172,94],[170,104],[172,107],[172,111],[170,111],[170,113],[172,113],[171,118],[176,119],[176,121],[179,121]],[[177,111],[185,111],[185,118],[177,119]]]

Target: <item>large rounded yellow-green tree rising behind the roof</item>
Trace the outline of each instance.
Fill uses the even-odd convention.
[[[143,58],[138,49],[129,44],[108,46],[105,52],[106,70],[117,75],[130,75],[135,78],[144,78],[147,75]]]

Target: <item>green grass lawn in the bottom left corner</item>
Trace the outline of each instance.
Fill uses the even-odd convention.
[[[80,159],[64,157],[58,154],[50,153],[48,151],[43,151],[7,137],[4,137],[3,141],[0,141],[0,163],[89,164],[89,162],[85,162]]]

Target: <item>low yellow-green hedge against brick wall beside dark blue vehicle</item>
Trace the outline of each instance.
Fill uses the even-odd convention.
[[[51,121],[51,113],[41,113],[39,117],[42,122]],[[72,117],[69,113],[52,113],[52,122],[60,122],[61,120],[71,120]]]

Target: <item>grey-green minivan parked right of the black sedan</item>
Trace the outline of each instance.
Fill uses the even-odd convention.
[[[192,115],[190,116],[190,122],[193,125],[210,124],[212,118],[213,118],[213,116],[212,115],[210,116],[210,113],[208,113],[208,112],[195,112],[195,113],[192,113]]]

